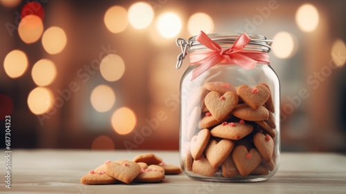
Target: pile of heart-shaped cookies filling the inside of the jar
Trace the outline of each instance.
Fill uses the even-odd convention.
[[[267,84],[215,81],[190,93],[182,122],[188,175],[246,177],[275,169],[275,107]]]

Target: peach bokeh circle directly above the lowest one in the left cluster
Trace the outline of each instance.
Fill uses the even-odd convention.
[[[57,69],[53,61],[41,59],[36,62],[31,70],[31,76],[37,86],[47,86],[54,81]]]

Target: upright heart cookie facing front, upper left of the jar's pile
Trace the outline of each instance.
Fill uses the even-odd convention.
[[[215,91],[211,91],[206,95],[204,99],[208,110],[211,115],[221,122],[222,119],[227,117],[227,115],[237,106],[238,95],[235,92],[226,92],[224,95],[220,95]]]

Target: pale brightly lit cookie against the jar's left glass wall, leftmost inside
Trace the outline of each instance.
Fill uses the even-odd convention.
[[[204,149],[208,145],[210,139],[210,130],[204,128],[199,131],[198,135],[192,137],[190,142],[190,151],[194,160],[198,160],[201,157]]]

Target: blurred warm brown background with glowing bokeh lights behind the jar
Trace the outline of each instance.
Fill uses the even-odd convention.
[[[282,151],[346,151],[346,1],[0,0],[11,148],[179,149],[175,39],[273,39]],[[1,148],[5,145],[1,143]]]

